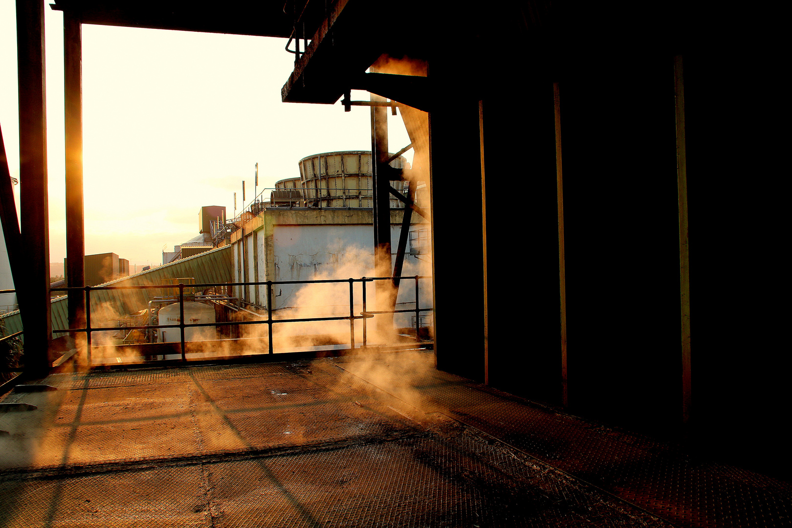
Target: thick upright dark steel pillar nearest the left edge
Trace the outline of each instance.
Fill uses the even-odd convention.
[[[44,2],[17,0],[17,76],[20,223],[27,259],[25,275],[19,282],[14,279],[17,294],[24,298],[25,367],[42,374],[51,367]]]

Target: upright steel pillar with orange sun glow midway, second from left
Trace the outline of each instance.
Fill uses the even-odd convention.
[[[84,287],[85,215],[82,184],[82,24],[78,14],[63,12],[63,88],[66,135],[66,282]],[[82,292],[69,293],[69,328],[85,328],[86,302]],[[75,346],[83,351],[86,335],[74,332]]]

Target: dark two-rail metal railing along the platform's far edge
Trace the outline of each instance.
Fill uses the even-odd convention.
[[[390,281],[392,282],[394,279],[399,279],[401,281],[404,280],[414,280],[415,281],[415,308],[408,308],[403,310],[368,310],[367,308],[367,283],[371,283],[377,280],[383,281]],[[135,330],[135,329],[179,329],[181,334],[181,361],[187,361],[187,348],[186,348],[186,341],[185,341],[185,329],[188,328],[195,328],[195,327],[204,327],[204,326],[235,326],[235,325],[268,325],[268,354],[274,354],[274,345],[273,345],[273,333],[272,333],[272,325],[280,325],[280,324],[287,324],[287,323],[307,323],[307,322],[315,322],[315,321],[349,321],[349,345],[350,348],[356,348],[355,343],[355,321],[363,321],[363,328],[362,328],[362,335],[363,341],[361,343],[362,348],[367,348],[367,319],[375,317],[377,314],[383,313],[412,313],[413,314],[413,321],[416,323],[415,332],[417,341],[421,341],[421,331],[420,331],[420,321],[421,321],[421,314],[425,312],[432,312],[433,308],[421,308],[421,287],[420,281],[421,279],[431,279],[431,276],[428,275],[413,275],[413,276],[402,276],[402,277],[362,277],[360,279],[325,279],[325,280],[288,280],[288,281],[266,281],[266,282],[257,282],[257,283],[201,283],[201,284],[185,284],[179,283],[178,287],[178,297],[174,298],[174,301],[179,303],[179,323],[177,325],[124,325],[123,329],[125,331]],[[330,316],[330,317],[296,317],[296,318],[274,318],[273,312],[276,310],[272,309],[272,287],[276,285],[282,284],[322,284],[322,283],[348,283],[349,285],[349,314],[348,315],[338,315],[338,316]],[[360,315],[355,314],[355,291],[354,285],[355,283],[361,284],[361,301],[362,301],[362,310],[360,311]],[[204,291],[211,287],[249,287],[249,286],[265,286],[267,287],[267,317],[261,318],[260,320],[253,320],[253,321],[220,321],[220,322],[208,322],[208,323],[185,323],[185,289],[193,289],[193,291]],[[85,294],[85,301],[86,306],[90,307],[90,297],[92,291],[100,291],[100,290],[167,290],[173,289],[173,284],[147,284],[147,285],[138,285],[138,286],[105,286],[105,287],[68,287],[68,288],[51,288],[51,291],[67,291],[67,292],[78,292],[82,291]],[[192,300],[192,295],[187,294],[187,300]],[[299,308],[299,307],[298,307]],[[248,310],[246,310],[248,311]],[[262,314],[256,314],[259,317],[262,317]],[[93,363],[92,356],[91,356],[91,349],[93,347],[92,343],[92,333],[93,332],[117,332],[120,329],[119,326],[98,326],[95,327],[91,324],[91,310],[88,308],[86,310],[86,326],[85,328],[72,328],[72,329],[52,329],[53,333],[68,333],[68,332],[85,332],[86,333],[86,363],[90,366]],[[18,335],[14,334],[14,336]],[[11,337],[11,336],[8,336]],[[174,342],[175,343],[175,342]]]

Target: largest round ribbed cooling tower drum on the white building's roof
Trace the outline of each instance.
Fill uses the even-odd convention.
[[[409,168],[399,156],[390,162],[395,169]],[[351,150],[314,154],[299,161],[303,197],[308,207],[372,207],[371,152]],[[404,192],[405,181],[391,181]],[[404,207],[393,196],[390,207]]]

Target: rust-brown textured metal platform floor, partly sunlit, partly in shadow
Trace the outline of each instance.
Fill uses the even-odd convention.
[[[0,526],[790,526],[792,486],[427,352],[52,374],[2,403]]]

